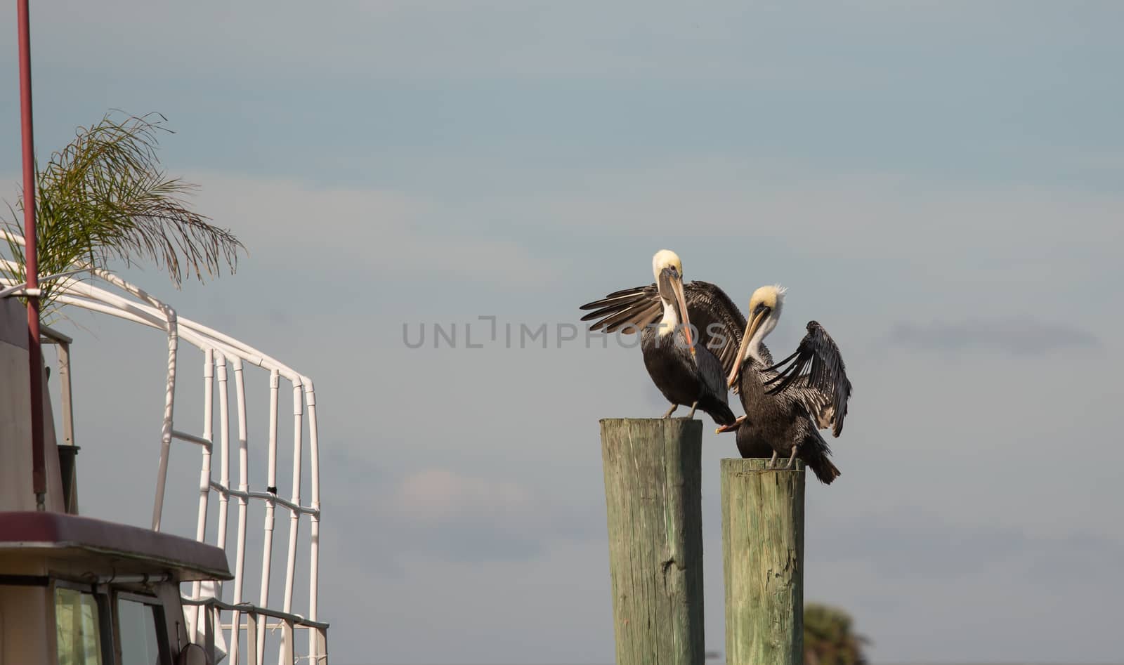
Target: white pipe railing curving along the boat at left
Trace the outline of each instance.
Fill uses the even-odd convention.
[[[15,242],[22,244],[22,238],[7,231],[0,230],[0,235],[7,236]],[[15,264],[0,258],[9,267]],[[76,277],[79,274],[92,275],[91,281],[82,281]],[[319,530],[320,530],[320,483],[319,483],[319,441],[317,438],[316,421],[316,393],[312,389],[312,381],[288,365],[270,357],[269,355],[233,338],[218,330],[214,330],[202,324],[179,316],[174,309],[152,297],[144,290],[120,279],[119,276],[100,270],[76,266],[75,271],[49,275],[54,280],[52,289],[57,302],[71,307],[82,308],[92,312],[109,315],[126,321],[140,324],[165,332],[167,337],[167,374],[165,382],[164,417],[161,428],[160,465],[156,474],[156,491],[153,502],[152,528],[161,529],[161,521],[164,509],[164,493],[167,483],[167,466],[173,441],[181,441],[199,446],[201,449],[201,465],[199,475],[199,512],[196,526],[196,540],[217,545],[224,550],[227,549],[228,540],[228,505],[230,498],[237,504],[237,526],[235,529],[235,565],[234,565],[234,589],[230,602],[225,602],[223,596],[223,584],[217,581],[194,582],[191,593],[184,595],[184,604],[188,607],[185,619],[189,623],[189,635],[192,641],[208,648],[215,649],[221,657],[223,654],[229,658],[232,665],[246,662],[253,665],[264,665],[266,635],[273,634],[266,630],[268,626],[260,617],[273,617],[280,619],[270,628],[281,628],[281,644],[279,646],[279,663],[293,663],[299,659],[308,659],[314,664],[327,663],[327,623],[318,620],[317,598],[318,598],[318,568],[319,568]],[[44,281],[40,277],[40,283]],[[105,282],[124,294],[111,292],[91,282]],[[6,289],[3,286],[7,286]],[[0,293],[3,295],[20,294],[20,284],[12,284],[10,280],[0,279]],[[176,426],[180,421],[175,412],[175,392],[179,381],[182,379],[178,368],[178,357],[180,353],[180,340],[183,340],[202,352],[203,355],[203,406],[202,419],[203,428],[200,434],[191,434]],[[246,366],[260,367],[269,372],[269,435],[266,446],[266,491],[253,491],[250,489],[250,440],[247,435],[247,412],[246,391],[243,377]],[[69,370],[69,367],[67,367]],[[236,445],[237,445],[237,484],[232,484],[230,479],[230,373],[234,374],[234,401],[236,422]],[[292,389],[292,482],[291,494],[288,499],[278,495],[278,418],[279,397],[282,380]],[[212,422],[215,420],[215,389],[218,390],[218,480],[214,477],[211,461],[216,453],[215,432]],[[307,435],[308,435],[308,459],[310,497],[307,504],[301,502],[301,462],[303,458],[303,441],[306,434],[305,408],[307,407]],[[211,493],[218,497],[218,525],[216,534],[211,540],[207,538],[207,513]],[[243,598],[244,581],[246,573],[246,531],[247,510],[251,501],[261,501],[265,508],[265,521],[263,526],[263,549],[261,568],[261,592],[257,603]],[[285,556],[284,592],[281,598],[281,610],[270,607],[270,573],[273,563],[273,529],[277,520],[277,510],[289,512],[289,543]],[[293,612],[293,583],[298,568],[298,532],[302,518],[309,521],[309,552],[308,552],[308,604],[307,617]],[[303,562],[301,562],[303,563]],[[303,567],[303,566],[301,566]],[[203,616],[207,614],[207,616]],[[228,617],[224,620],[223,614]],[[242,621],[242,616],[246,614],[247,621]],[[215,627],[218,630],[215,630]],[[308,653],[296,655],[294,653],[294,630],[297,628],[307,630]],[[225,632],[224,632],[225,631]],[[248,654],[246,661],[241,659],[239,637],[245,637]]]

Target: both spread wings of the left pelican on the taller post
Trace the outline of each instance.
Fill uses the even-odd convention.
[[[728,375],[737,362],[745,317],[729,297],[710,282],[696,280],[685,283],[683,300],[697,344],[710,349]],[[589,325],[590,330],[628,334],[656,322],[663,313],[663,303],[655,284],[649,284],[609,293],[581,306],[581,309],[593,310],[581,318],[582,321],[593,321]],[[625,328],[628,324],[635,328]]]

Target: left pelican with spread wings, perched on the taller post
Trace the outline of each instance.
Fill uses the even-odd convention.
[[[644,365],[652,382],[671,402],[701,409],[718,425],[733,425],[726,375],[734,368],[745,317],[708,282],[683,283],[683,264],[669,249],[652,257],[655,283],[609,293],[581,306],[593,310],[582,321],[590,330],[641,334]]]

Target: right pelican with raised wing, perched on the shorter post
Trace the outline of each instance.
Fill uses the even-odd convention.
[[[772,362],[764,338],[777,327],[785,289],[762,286],[750,299],[750,319],[741,336],[737,362],[728,384],[737,390],[745,409],[744,419],[718,431],[737,430],[738,448],[772,449],[770,466],[779,455],[788,455],[788,465],[797,456],[828,484],[840,470],[828,461],[831,448],[819,429],[843,431],[851,381],[835,341],[816,321],[808,321],[807,334],[796,352],[779,363]],[[745,452],[743,450],[743,456]],[[756,456],[756,455],[754,455]]]

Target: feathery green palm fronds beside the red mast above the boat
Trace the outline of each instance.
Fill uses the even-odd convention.
[[[74,140],[36,170],[40,275],[106,268],[114,258],[126,265],[148,258],[179,288],[184,273],[202,281],[203,273],[217,276],[221,263],[235,271],[238,249],[245,247],[230,231],[190,210],[183,197],[196,185],[167,177],[160,165],[157,135],[171,133],[162,126],[165,121],[158,113],[120,121],[107,113],[91,127],[79,127]],[[22,194],[8,210],[12,219],[3,222],[20,235]],[[0,271],[12,283],[22,283],[22,248],[11,239],[8,245],[16,266],[0,263]],[[42,290],[46,312],[55,289],[44,283]]]

